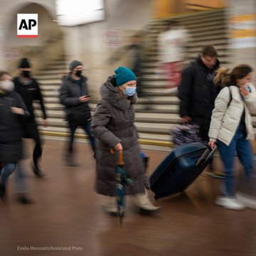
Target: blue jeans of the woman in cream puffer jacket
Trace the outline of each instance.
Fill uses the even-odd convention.
[[[234,178],[234,159],[235,151],[238,159],[245,169],[245,176],[251,178],[253,174],[253,154],[250,140],[246,139],[247,134],[244,127],[240,124],[229,146],[223,142],[217,141],[220,158],[225,168],[225,196],[234,196],[235,178]]]

